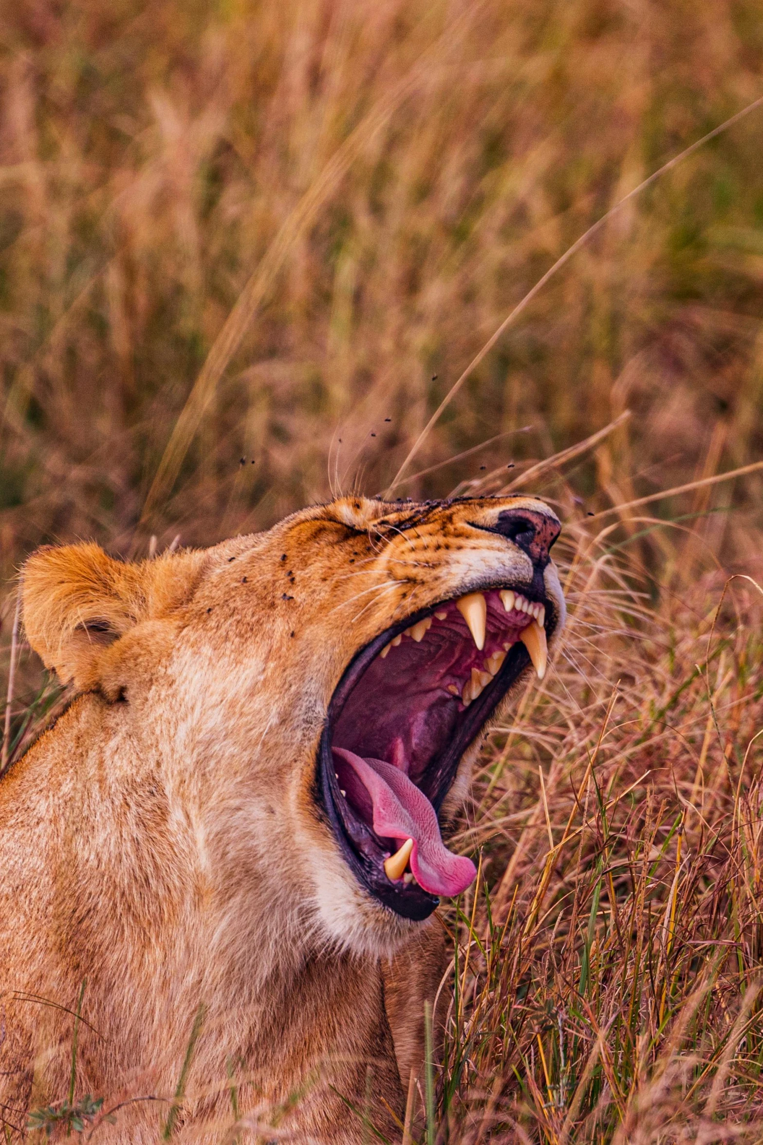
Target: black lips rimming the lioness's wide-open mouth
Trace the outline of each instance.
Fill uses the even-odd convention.
[[[554,603],[545,594],[533,592],[530,585],[487,584],[464,587],[459,595],[469,592],[490,592],[493,589],[512,589],[520,592],[528,600],[542,603],[546,608],[546,630],[549,635],[556,627],[556,609]],[[342,851],[342,856],[348,867],[360,883],[377,901],[390,910],[411,918],[414,922],[422,922],[439,905],[439,899],[435,894],[429,894],[416,883],[405,884],[392,883],[384,874],[386,852],[382,851],[376,836],[352,811],[350,805],[342,799],[336,782],[334,761],[332,759],[332,735],[334,724],[347,702],[350,693],[365,672],[366,668],[376,657],[381,649],[399,632],[404,632],[418,621],[431,616],[436,609],[451,603],[454,598],[438,601],[428,608],[422,608],[404,621],[399,621],[391,627],[386,629],[377,637],[374,637],[352,657],[339,681],[328,704],[326,721],[320,735],[318,747],[318,796],[320,804],[328,816],[334,836]],[[467,709],[467,717],[459,727],[458,735],[447,745],[439,759],[435,760],[427,771],[426,788],[423,783],[419,785],[427,795],[435,811],[439,813],[445,796],[451,789],[461,757],[468,747],[479,734],[482,727],[492,716],[493,711],[507,694],[509,688],[518,680],[522,673],[530,666],[530,655],[523,643],[517,641],[507,654],[501,670],[490,687],[479,695]],[[341,799],[341,804],[340,804]],[[340,811],[340,806],[342,810]],[[364,851],[356,846],[363,842]]]

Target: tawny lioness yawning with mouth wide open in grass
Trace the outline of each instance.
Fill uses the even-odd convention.
[[[29,641],[78,695],[0,782],[8,1139],[67,1097],[82,990],[74,1101],[127,1103],[104,1143],[218,1142],[231,1104],[230,1140],[399,1139],[431,915],[475,875],[439,824],[546,671],[558,531],[528,497],[344,497],[206,551],[29,559]]]

